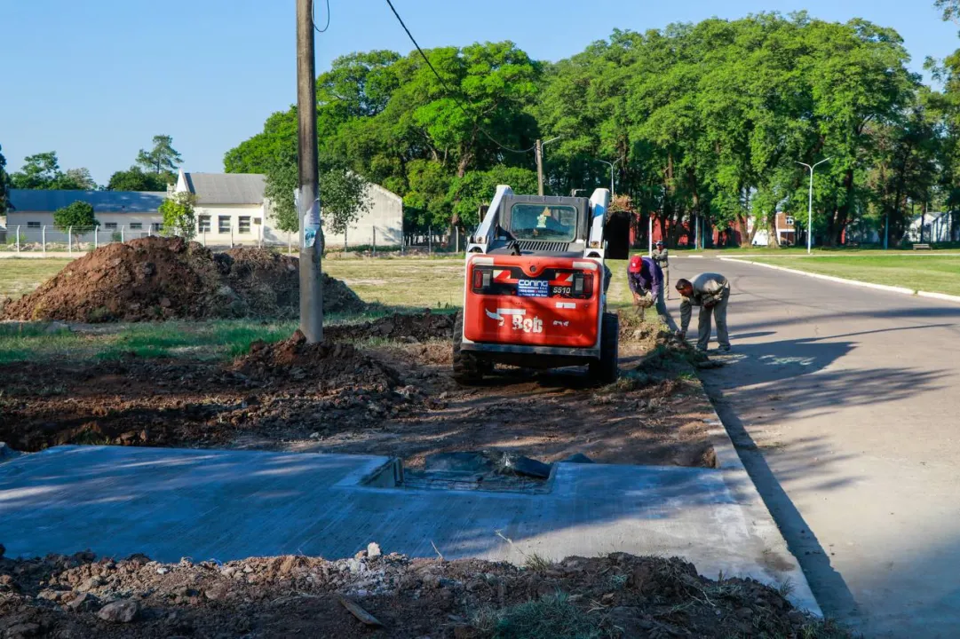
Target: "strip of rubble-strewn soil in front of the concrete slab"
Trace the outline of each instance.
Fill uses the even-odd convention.
[[[337,561],[0,558],[0,636],[851,636],[766,585],[708,580],[679,558],[612,554],[529,565],[411,560],[382,555],[375,544]]]

